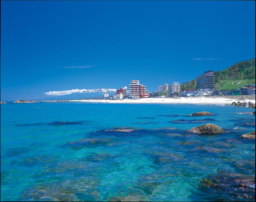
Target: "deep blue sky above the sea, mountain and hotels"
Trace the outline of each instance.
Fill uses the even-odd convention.
[[[255,57],[255,1],[1,1],[1,101],[149,91]]]

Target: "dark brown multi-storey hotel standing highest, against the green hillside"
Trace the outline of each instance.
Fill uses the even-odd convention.
[[[197,77],[197,89],[215,88],[215,75],[212,70],[204,72],[204,74]]]

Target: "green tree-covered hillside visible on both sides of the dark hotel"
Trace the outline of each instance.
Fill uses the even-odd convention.
[[[238,89],[249,84],[255,84],[255,58],[237,62],[222,71],[215,72],[215,82],[218,90]],[[181,84],[181,91],[195,88],[196,79]]]

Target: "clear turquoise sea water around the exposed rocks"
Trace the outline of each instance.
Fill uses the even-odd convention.
[[[255,116],[234,113],[254,110],[2,104],[1,201],[254,201],[255,141],[240,136]],[[197,111],[214,115],[186,116]],[[207,123],[227,133],[185,131]],[[136,130],[107,131],[123,127]]]

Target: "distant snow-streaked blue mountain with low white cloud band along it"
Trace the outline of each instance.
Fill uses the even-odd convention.
[[[48,98],[43,98],[39,100],[71,100],[71,99],[82,99],[82,98],[95,98],[95,97],[102,97],[102,93],[108,93],[109,96],[114,95],[117,89],[108,89],[108,88],[101,88],[101,89],[73,89],[68,91],[50,91],[45,93],[49,95]],[[53,97],[53,96],[56,97]]]

